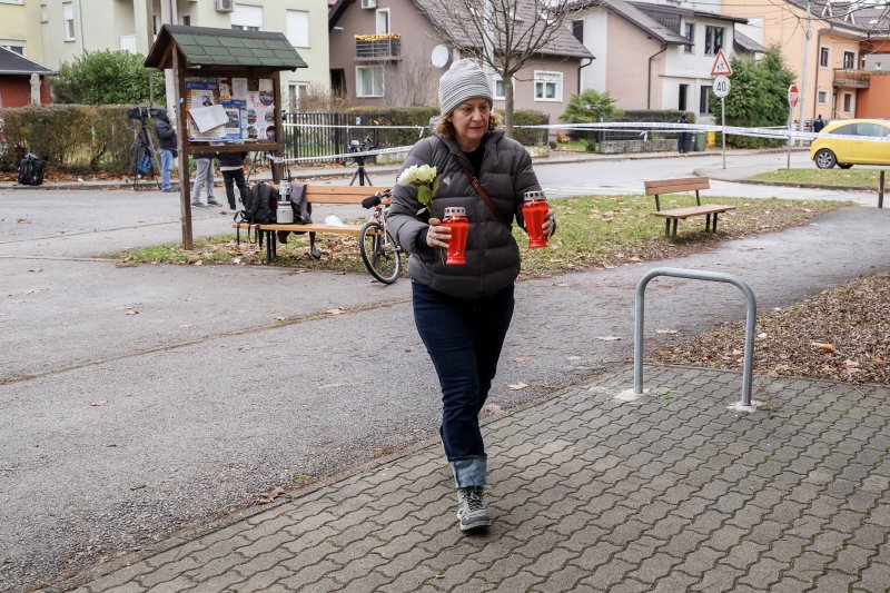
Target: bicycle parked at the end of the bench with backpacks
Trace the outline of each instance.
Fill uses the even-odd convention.
[[[364,208],[374,211],[358,234],[358,249],[365,267],[383,284],[395,283],[402,274],[402,246],[386,229],[386,213],[392,201],[388,189],[362,200]]]

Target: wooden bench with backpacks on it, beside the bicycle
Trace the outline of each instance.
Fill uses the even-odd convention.
[[[378,191],[392,189],[383,186],[306,186],[306,201],[309,204],[328,205],[359,205],[368,196]],[[289,230],[291,233],[330,233],[337,235],[358,235],[364,225],[330,226],[313,223],[310,225],[248,225],[247,223],[233,223],[231,228],[255,230],[266,236],[266,261],[271,263],[277,255],[278,239],[277,231]],[[259,236],[259,246],[263,247],[263,235]]]

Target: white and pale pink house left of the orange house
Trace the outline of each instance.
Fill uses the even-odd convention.
[[[675,3],[587,2],[574,31],[596,60],[583,69],[584,89],[607,91],[620,109],[676,109],[710,121],[711,71],[718,51],[765,51],[735,30],[746,20]]]

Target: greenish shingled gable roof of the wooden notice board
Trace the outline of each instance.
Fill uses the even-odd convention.
[[[270,70],[306,68],[284,33],[241,31],[186,24],[165,24],[146,58],[146,68],[172,68],[171,42],[185,58],[186,68],[247,66]]]

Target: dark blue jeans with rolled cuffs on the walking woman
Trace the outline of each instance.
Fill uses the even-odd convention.
[[[412,291],[414,323],[442,387],[439,435],[454,484],[484,486],[487,457],[479,412],[513,318],[513,285],[476,299],[449,297],[416,281]]]

